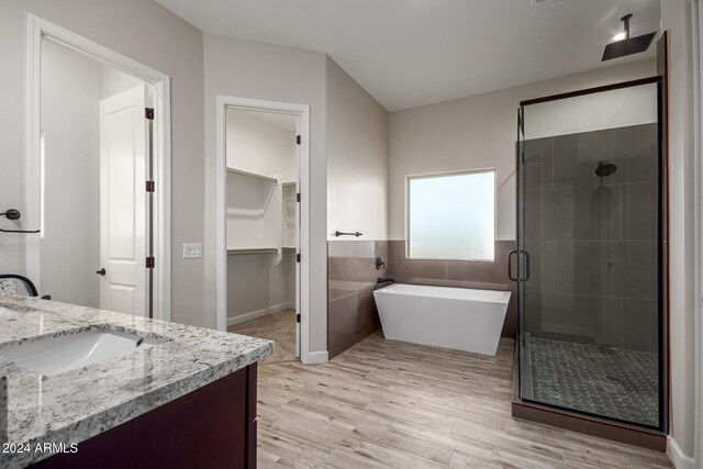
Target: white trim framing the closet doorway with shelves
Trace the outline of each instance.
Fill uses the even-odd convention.
[[[258,99],[215,97],[215,304],[217,312],[216,327],[226,331],[227,324],[227,226],[226,226],[226,108],[235,107],[256,111],[287,112],[300,115],[300,348],[301,361],[310,364],[310,105],[288,102],[265,101]],[[325,357],[327,353],[325,351]],[[316,359],[316,356],[315,356]],[[326,358],[325,358],[326,360]],[[315,361],[317,362],[317,361]]]

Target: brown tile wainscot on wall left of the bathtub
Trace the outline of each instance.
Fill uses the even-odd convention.
[[[381,256],[388,266],[387,242],[327,242],[327,351],[331,359],[381,327],[373,290],[379,287],[378,277],[388,277],[388,267],[376,270],[376,256]]]

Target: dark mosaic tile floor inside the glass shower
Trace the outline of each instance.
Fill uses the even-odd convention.
[[[658,426],[657,354],[531,338],[533,400]]]

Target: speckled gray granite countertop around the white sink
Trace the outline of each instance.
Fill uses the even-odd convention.
[[[0,358],[0,467],[25,467],[48,457],[51,453],[35,451],[37,444],[80,444],[274,351],[274,343],[266,339],[0,295],[0,347],[90,328],[164,342],[54,376]],[[30,453],[10,451],[10,445],[29,447]]]

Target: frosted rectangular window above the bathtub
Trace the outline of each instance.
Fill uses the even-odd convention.
[[[408,178],[408,257],[493,260],[495,170]]]

